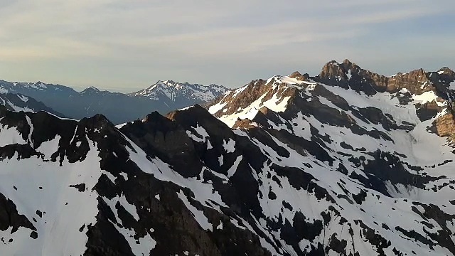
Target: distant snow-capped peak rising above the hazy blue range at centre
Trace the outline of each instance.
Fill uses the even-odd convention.
[[[172,80],[158,81],[150,87],[133,92],[133,97],[148,97],[152,100],[161,100],[163,102],[185,102],[183,105],[176,107],[187,107],[195,103],[204,103],[215,100],[216,97],[228,92],[228,88],[220,85],[198,85],[188,82],[174,82]],[[192,102],[192,103],[191,103]],[[189,104],[188,104],[189,103]]]

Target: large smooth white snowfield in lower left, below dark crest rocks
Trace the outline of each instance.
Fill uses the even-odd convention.
[[[49,159],[58,148],[59,139],[55,137],[44,142],[37,151]],[[38,238],[30,240],[31,230],[20,228],[14,233],[13,242],[0,245],[2,254],[82,255],[87,236],[85,232],[79,232],[79,228],[96,222],[98,202],[92,187],[101,175],[99,161],[94,148],[90,149],[84,161],[69,164],[64,160],[63,166],[58,161],[44,163],[36,157],[21,161],[13,157],[0,161],[0,192],[16,203],[18,213],[30,220],[36,218],[37,222],[33,225],[38,230]],[[79,192],[70,188],[70,185],[79,183],[85,183],[88,189]],[[82,205],[84,207],[80,207]],[[43,218],[36,215],[36,210],[45,212]]]

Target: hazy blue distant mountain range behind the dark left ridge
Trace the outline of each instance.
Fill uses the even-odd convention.
[[[166,113],[196,103],[213,100],[225,87],[218,85],[189,85],[176,83],[175,90],[171,86],[164,91],[150,89],[148,95],[125,95],[119,92],[101,91],[96,87],[89,87],[82,92],[76,92],[64,85],[51,85],[43,82],[6,82],[0,80],[0,93],[10,92],[27,95],[43,102],[48,107],[62,112],[67,117],[82,119],[95,114],[105,114],[114,124],[121,124],[140,117],[152,111]],[[169,99],[161,92],[176,92],[175,99]],[[156,97],[151,93],[156,92]]]

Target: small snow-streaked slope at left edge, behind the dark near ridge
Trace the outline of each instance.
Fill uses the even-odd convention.
[[[50,107],[45,106],[42,102],[38,102],[32,97],[27,97],[21,94],[14,93],[0,93],[0,105],[6,107],[7,110],[11,111],[24,111],[24,112],[39,112],[46,111],[51,114],[63,117],[63,114],[56,112]]]

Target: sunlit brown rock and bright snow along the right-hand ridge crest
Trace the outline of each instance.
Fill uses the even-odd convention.
[[[299,87],[305,87],[306,90],[311,90],[311,95],[325,97],[342,110],[348,110],[346,100],[319,85],[323,84],[353,90],[368,96],[387,93],[391,99],[396,97],[400,105],[414,104],[417,116],[421,121],[425,121],[445,109],[448,112],[453,110],[451,102],[455,99],[455,91],[451,91],[450,86],[452,82],[455,85],[454,74],[449,68],[441,68],[438,72],[427,73],[419,69],[385,77],[364,70],[350,60],[344,60],[343,63],[332,60],[323,66],[321,73],[316,77],[311,78],[307,74],[301,75],[299,72],[294,72],[286,77],[274,76],[269,80],[255,80],[205,106],[223,121],[231,118],[232,120],[227,123],[232,127],[237,122],[237,118],[252,109],[272,107],[272,110],[282,112],[283,107],[277,107],[278,102],[292,108],[295,107],[296,98],[304,98],[304,101],[307,101],[309,97],[301,95],[297,90]],[[273,104],[270,104],[271,102],[267,101],[272,97]],[[306,108],[312,106],[312,111],[330,111],[330,107],[327,108],[324,104],[318,103],[318,100],[301,104],[307,105]],[[358,112],[358,110],[351,111]],[[338,116],[336,112],[333,114]],[[325,117],[323,114],[319,116],[333,119],[333,114],[332,117],[330,114]]]

